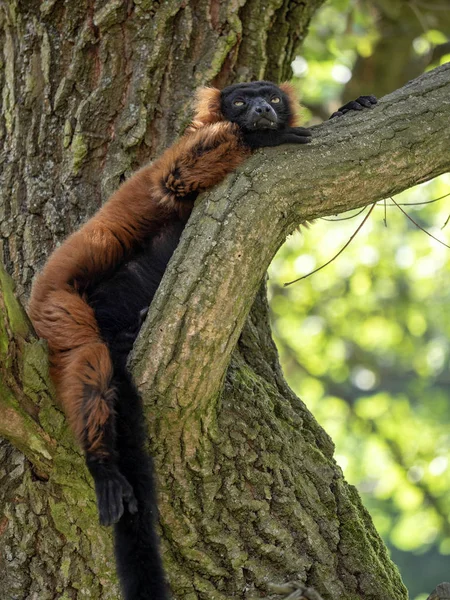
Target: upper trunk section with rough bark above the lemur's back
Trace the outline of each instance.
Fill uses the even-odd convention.
[[[198,86],[287,78],[322,2],[3,2],[0,258],[19,296],[55,243],[183,131]]]

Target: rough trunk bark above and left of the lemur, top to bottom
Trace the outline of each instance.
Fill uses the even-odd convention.
[[[17,296],[55,244],[183,130],[196,87],[286,78],[322,2],[2,2],[0,262]],[[109,532],[3,273],[1,295],[1,434],[29,460],[2,443],[0,597],[117,599]]]

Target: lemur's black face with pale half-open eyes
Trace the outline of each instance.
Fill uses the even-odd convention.
[[[221,111],[243,131],[280,130],[292,116],[287,95],[269,81],[237,83],[221,92]]]

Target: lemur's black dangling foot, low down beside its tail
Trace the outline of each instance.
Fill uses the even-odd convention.
[[[125,510],[137,513],[137,500],[133,488],[114,464],[88,464],[94,478],[100,525],[117,523]]]

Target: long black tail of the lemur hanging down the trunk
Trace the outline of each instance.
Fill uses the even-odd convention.
[[[155,524],[157,504],[153,465],[145,451],[147,434],[141,398],[125,368],[115,370],[116,449],[120,472],[132,485],[136,514],[127,508],[114,526],[115,553],[124,600],[167,600]]]

